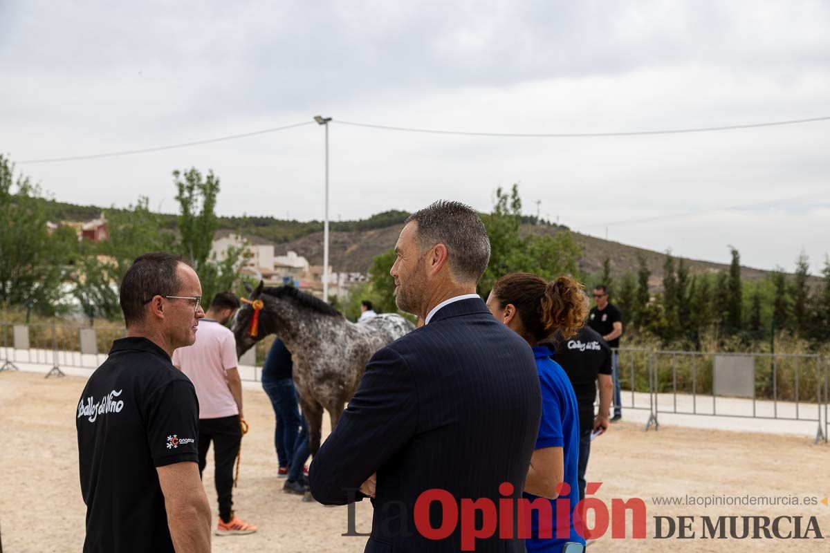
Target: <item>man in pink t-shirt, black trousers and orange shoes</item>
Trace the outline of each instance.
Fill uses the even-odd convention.
[[[233,506],[233,462],[242,443],[242,381],[237,371],[237,343],[225,325],[239,308],[230,292],[217,293],[199,321],[193,346],[173,352],[177,366],[196,388],[199,400],[199,476],[213,442],[216,492],[219,500],[217,536],[251,534],[256,526],[239,520]]]

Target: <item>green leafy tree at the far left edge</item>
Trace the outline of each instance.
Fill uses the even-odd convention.
[[[51,214],[40,187],[13,175],[14,166],[0,154],[0,303],[52,314],[72,250],[65,234],[47,230]]]

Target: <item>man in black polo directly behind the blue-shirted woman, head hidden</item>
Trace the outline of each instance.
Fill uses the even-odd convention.
[[[568,374],[579,409],[579,499],[585,498],[585,470],[591,454],[591,434],[608,429],[611,407],[611,348],[591,327],[583,327],[576,337],[556,344],[554,361]],[[599,381],[599,411],[593,415]]]

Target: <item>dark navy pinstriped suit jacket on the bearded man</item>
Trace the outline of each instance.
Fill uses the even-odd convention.
[[[432,541],[417,530],[417,497],[442,488],[488,497],[513,484],[521,497],[539,431],[539,376],[528,344],[496,321],[481,298],[450,303],[430,323],[378,351],[337,428],[310,467],[315,499],[344,505],[378,474],[372,533],[365,551],[460,551],[460,524]],[[441,507],[430,509],[433,528]],[[459,519],[460,523],[460,519]],[[496,536],[476,551],[525,551]]]

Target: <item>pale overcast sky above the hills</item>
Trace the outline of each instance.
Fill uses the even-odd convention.
[[[486,6],[486,8],[485,8]],[[830,2],[0,1],[0,152],[61,201],[174,211],[212,169],[223,215],[323,216],[323,129],[63,163],[333,117],[331,217],[437,198],[676,255],[814,272],[830,252]]]

